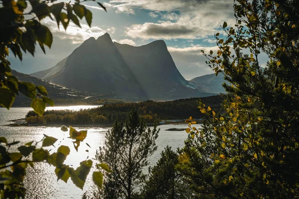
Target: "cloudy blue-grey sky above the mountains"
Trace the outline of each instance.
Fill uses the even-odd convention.
[[[221,31],[224,21],[235,24],[233,0],[99,0],[107,8],[105,12],[96,1],[84,4],[92,11],[92,26],[83,18],[82,26],[70,23],[65,31],[58,29],[55,21],[43,19],[42,24],[53,33],[51,49],[46,55],[36,47],[35,56],[23,55],[23,61],[9,57],[11,68],[30,74],[51,68],[67,57],[84,40],[108,32],[118,43],[134,46],[164,40],[174,63],[186,80],[211,74],[201,50],[216,50],[214,34]],[[217,50],[216,50],[217,51]],[[82,55],[84,56],[84,55]],[[267,56],[260,59],[262,66]]]

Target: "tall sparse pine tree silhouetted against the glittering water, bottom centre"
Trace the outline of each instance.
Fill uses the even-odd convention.
[[[148,165],[148,157],[156,150],[157,125],[147,127],[147,122],[134,108],[123,123],[116,120],[112,130],[106,134],[105,146],[97,153],[101,162],[109,165],[113,172],[105,178],[103,198],[132,199],[146,180],[142,169]]]

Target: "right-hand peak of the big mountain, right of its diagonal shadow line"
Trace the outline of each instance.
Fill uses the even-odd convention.
[[[115,45],[147,96],[153,99],[162,96],[164,99],[178,99],[203,92],[179,73],[164,41],[158,40],[139,47],[116,42]]]

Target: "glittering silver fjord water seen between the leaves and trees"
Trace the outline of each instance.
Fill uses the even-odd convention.
[[[47,107],[47,109],[73,109],[79,110],[81,108],[92,108],[97,106],[57,106]],[[88,130],[87,138],[81,143],[78,152],[73,147],[72,140],[67,138],[68,132],[63,132],[59,127],[49,126],[5,126],[11,122],[7,120],[24,118],[26,113],[31,110],[30,107],[13,107],[10,110],[0,108],[0,136],[4,136],[9,142],[20,141],[25,144],[30,141],[40,141],[43,134],[55,137],[58,141],[55,147],[48,147],[56,151],[60,145],[67,145],[71,149],[70,155],[67,157],[65,164],[72,165],[77,168],[80,162],[86,159],[92,159],[94,164],[97,163],[95,158],[96,151],[100,146],[103,146],[105,133],[109,128],[101,127],[76,127],[78,130]],[[160,125],[159,136],[156,140],[157,151],[149,158],[149,166],[153,166],[160,157],[161,151],[164,147],[171,146],[173,150],[177,147],[183,147],[184,140],[187,138],[185,131],[166,131],[168,128],[185,128],[185,124],[165,124]],[[89,148],[88,143],[91,148]],[[40,146],[41,143],[38,144]],[[59,144],[59,145],[58,145]],[[11,149],[15,150],[15,149]],[[86,151],[88,150],[88,152]],[[54,172],[54,167],[46,163],[36,164],[32,169],[28,166],[26,170],[27,176],[24,180],[25,188],[27,189],[26,199],[81,199],[84,192],[91,194],[97,189],[92,182],[92,172],[87,177],[83,190],[77,188],[69,179],[65,184],[62,181],[57,182]]]

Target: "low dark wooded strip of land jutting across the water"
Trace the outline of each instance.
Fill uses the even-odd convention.
[[[26,115],[26,121],[30,124],[111,124],[116,119],[125,121],[128,113],[135,107],[149,123],[167,119],[186,119],[189,116],[202,118],[198,110],[198,98],[181,99],[174,101],[144,101],[131,103],[105,104],[98,108],[73,110],[47,110],[42,116],[30,111]],[[219,108],[221,96],[201,98],[207,106]]]

